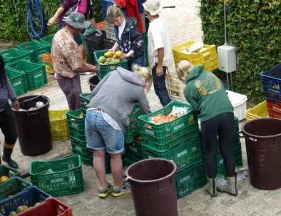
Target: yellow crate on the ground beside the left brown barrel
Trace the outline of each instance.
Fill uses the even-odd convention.
[[[68,110],[49,110],[52,140],[69,140],[66,112]]]

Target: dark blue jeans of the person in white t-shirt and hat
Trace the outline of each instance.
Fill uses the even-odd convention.
[[[156,75],[156,68],[157,68],[157,63],[155,63],[155,66],[152,69],[154,91],[156,93],[156,96],[158,96],[162,106],[166,106],[168,103],[170,103],[170,97],[169,97],[169,94],[168,94],[168,90],[166,88],[166,70],[167,70],[167,67],[163,67],[163,75],[162,76]]]

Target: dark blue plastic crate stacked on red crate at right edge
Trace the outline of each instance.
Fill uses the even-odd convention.
[[[281,102],[281,63],[260,73],[265,98]]]

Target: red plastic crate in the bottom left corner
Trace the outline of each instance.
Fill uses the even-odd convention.
[[[17,216],[72,216],[71,207],[63,204],[53,197],[48,198],[31,210],[19,213]]]

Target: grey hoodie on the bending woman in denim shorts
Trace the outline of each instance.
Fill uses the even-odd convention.
[[[144,83],[135,73],[118,67],[108,73],[92,91],[88,108],[99,108],[108,113],[123,131],[129,125],[129,115],[135,103],[139,103],[142,113],[150,113]]]

